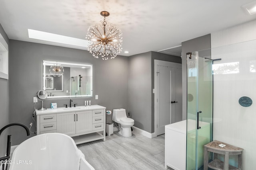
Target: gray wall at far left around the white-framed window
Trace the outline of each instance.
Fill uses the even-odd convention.
[[[9,38],[6,35],[2,25],[0,24],[0,34],[4,37],[6,43],[9,46]],[[9,46],[10,50],[10,46]],[[9,81],[0,78],[0,129],[9,124]],[[6,153],[7,135],[9,135],[9,129],[6,129],[0,137],[0,157]]]

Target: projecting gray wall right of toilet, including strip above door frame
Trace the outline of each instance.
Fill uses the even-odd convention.
[[[181,58],[157,52],[129,57],[129,111],[134,126],[154,133],[154,59],[181,63]]]

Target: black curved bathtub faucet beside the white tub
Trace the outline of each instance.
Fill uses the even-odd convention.
[[[3,127],[2,129],[0,129],[0,136],[1,136],[1,133],[4,131],[4,129],[6,129],[7,127],[10,127],[10,126],[15,126],[15,125],[18,125],[18,126],[21,126],[23,127],[26,132],[27,132],[27,136],[30,135],[29,133],[29,130],[28,130],[28,127],[26,127],[25,125],[23,125],[22,123],[10,123],[9,125],[6,125],[5,127]],[[6,149],[6,156],[0,158],[0,160],[9,160],[10,158],[10,152],[11,152],[11,142],[12,142],[12,135],[8,135],[7,137],[7,149]],[[4,164],[2,164],[2,169],[4,170]],[[6,170],[8,169],[8,164],[6,164]]]

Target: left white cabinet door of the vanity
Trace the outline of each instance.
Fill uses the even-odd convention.
[[[76,134],[76,112],[57,114],[57,133]]]

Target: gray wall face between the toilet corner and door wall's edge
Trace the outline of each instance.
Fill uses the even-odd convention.
[[[134,126],[151,133],[151,52],[129,57],[128,98]]]

